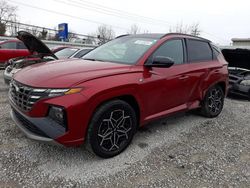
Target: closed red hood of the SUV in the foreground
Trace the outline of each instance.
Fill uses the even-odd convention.
[[[126,73],[130,67],[83,59],[57,60],[28,66],[15,74],[14,79],[37,88],[69,88],[87,80]]]

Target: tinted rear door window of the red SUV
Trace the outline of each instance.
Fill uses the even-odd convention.
[[[212,50],[207,42],[188,39],[189,61],[209,61],[212,60],[212,58]]]

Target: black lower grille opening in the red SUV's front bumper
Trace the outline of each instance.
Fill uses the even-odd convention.
[[[20,123],[22,123],[22,126],[28,129],[30,132],[42,136],[42,137],[48,137],[44,132],[42,132],[39,128],[37,128],[33,123],[31,123],[29,120],[27,120],[25,117],[23,117],[19,112],[17,112],[15,109],[12,109],[15,117],[19,120]]]

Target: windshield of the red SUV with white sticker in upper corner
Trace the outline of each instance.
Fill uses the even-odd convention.
[[[121,37],[94,49],[83,59],[135,64],[156,41],[154,38]]]

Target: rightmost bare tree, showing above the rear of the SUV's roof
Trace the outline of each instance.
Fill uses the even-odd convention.
[[[191,34],[194,36],[199,36],[201,33],[199,23],[194,23],[192,25],[183,25],[183,23],[178,23],[174,27],[170,27],[169,32]]]

